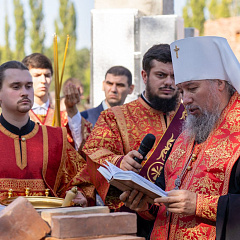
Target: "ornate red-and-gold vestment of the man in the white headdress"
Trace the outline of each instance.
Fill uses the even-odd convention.
[[[226,195],[231,170],[240,155],[240,95],[236,92],[207,140],[195,147],[184,132],[176,140],[165,164],[166,190],[172,190],[191,153],[197,155],[180,189],[197,193],[196,214],[169,214],[159,208],[151,239],[215,239],[218,199]]]

